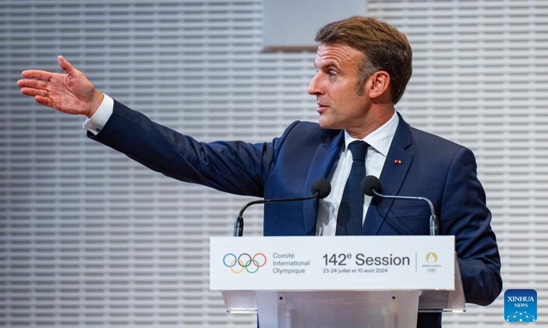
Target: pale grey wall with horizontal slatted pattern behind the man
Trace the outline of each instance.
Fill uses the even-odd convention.
[[[317,5],[329,10],[331,1]],[[548,327],[548,3],[367,1],[408,35],[397,109],[471,148],[504,288],[538,291]],[[65,55],[96,87],[203,141],[265,141],[315,121],[314,53],[262,53],[262,1],[0,3],[0,322],[6,327],[256,327],[208,290],[208,238],[245,197],[172,181],[99,144],[83,119],[19,94]],[[303,13],[306,16],[306,13]],[[310,36],[313,38],[313,36]],[[427,187],[427,186],[426,186]],[[246,234],[260,235],[261,208]],[[503,299],[444,316],[501,327]]]

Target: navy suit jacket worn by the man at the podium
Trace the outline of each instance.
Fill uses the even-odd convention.
[[[500,258],[473,153],[399,119],[379,177],[382,189],[432,200],[440,234],[456,236],[466,301],[488,305],[501,292]],[[344,131],[293,122],[268,143],[201,143],[115,101],[112,116],[93,139],[182,181],[238,195],[282,198],[308,196],[312,181],[331,178]],[[375,199],[362,234],[429,234],[429,206],[422,203]],[[264,235],[314,236],[317,208],[317,200],[267,204]],[[419,314],[418,327],[440,327],[440,318]]]

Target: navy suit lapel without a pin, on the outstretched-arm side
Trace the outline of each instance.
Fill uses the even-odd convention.
[[[310,185],[319,178],[328,178],[340,154],[340,148],[345,141],[345,131],[341,130],[334,139],[327,143],[321,143],[316,149],[314,158],[308,169],[303,195],[310,195]],[[316,218],[318,216],[318,200],[303,202],[303,218],[306,234],[316,234]]]

